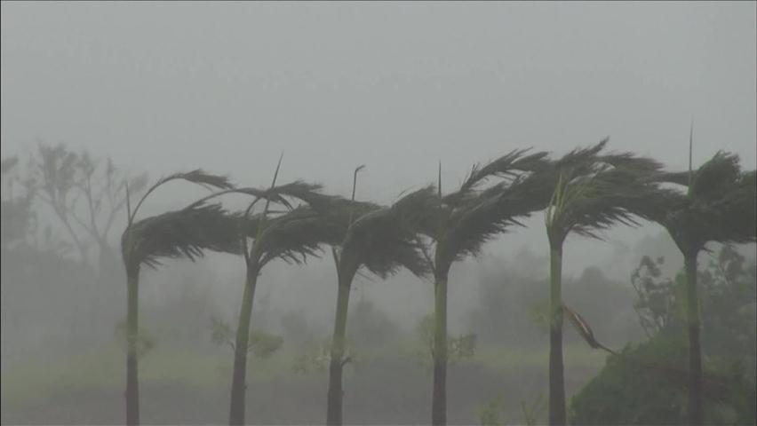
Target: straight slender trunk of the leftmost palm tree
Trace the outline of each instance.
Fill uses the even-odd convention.
[[[126,424],[139,424],[139,374],[137,343],[139,336],[139,264],[127,267],[126,286]]]

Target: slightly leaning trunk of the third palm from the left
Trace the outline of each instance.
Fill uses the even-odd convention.
[[[346,263],[342,263],[345,266]],[[342,424],[342,369],[345,365],[345,338],[347,336],[347,309],[349,308],[349,292],[355,277],[352,268],[339,268],[339,292],[337,294],[337,315],[334,319],[334,335],[331,336],[331,361],[329,363],[329,390],[326,401],[326,424],[341,426]]]

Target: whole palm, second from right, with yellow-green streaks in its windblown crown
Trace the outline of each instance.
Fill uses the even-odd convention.
[[[570,233],[602,239],[612,225],[638,225],[649,217],[647,204],[657,185],[646,177],[657,162],[633,154],[601,154],[608,139],[576,149],[553,162],[543,176],[554,193],[545,213],[550,248],[549,424],[563,425],[565,389],[562,364],[562,246]]]

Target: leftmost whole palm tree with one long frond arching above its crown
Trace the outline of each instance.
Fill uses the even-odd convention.
[[[226,177],[193,170],[176,173],[158,180],[147,190],[131,210],[128,201],[128,223],[121,236],[121,251],[126,268],[128,299],[126,308],[126,423],[139,424],[139,269],[144,264],[153,269],[161,265],[162,258],[186,257],[194,261],[203,256],[203,250],[236,253],[239,240],[230,233],[237,219],[218,204],[193,203],[185,209],[163,213],[135,221],[139,207],[159,186],[172,180],[212,188],[231,188]]]

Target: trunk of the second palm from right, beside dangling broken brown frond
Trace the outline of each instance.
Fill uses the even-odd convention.
[[[565,383],[562,365],[562,247],[549,251],[549,424],[565,421]]]

